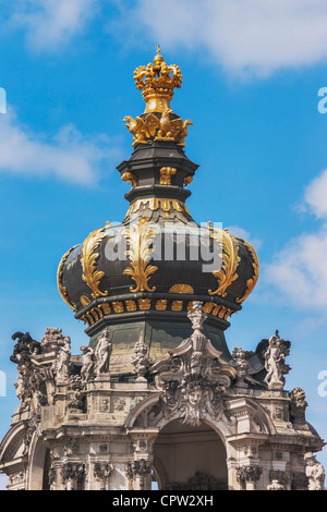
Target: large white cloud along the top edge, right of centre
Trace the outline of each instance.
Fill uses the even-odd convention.
[[[124,19],[143,41],[201,50],[242,75],[266,76],[327,58],[326,0],[138,0]]]

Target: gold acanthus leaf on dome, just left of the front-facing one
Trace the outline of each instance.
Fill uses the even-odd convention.
[[[82,248],[82,278],[92,290],[93,298],[97,298],[101,295],[108,295],[108,290],[105,292],[99,290],[100,280],[105,276],[105,272],[101,270],[96,270],[96,260],[98,259],[99,254],[95,253],[95,249],[99,246],[100,242],[106,236],[106,228],[100,228],[89,233],[87,239],[84,241]]]

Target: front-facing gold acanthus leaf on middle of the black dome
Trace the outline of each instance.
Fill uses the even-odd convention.
[[[158,231],[152,222],[148,222],[146,217],[142,217],[138,222],[132,224],[123,233],[130,245],[125,254],[131,261],[131,267],[125,268],[123,273],[131,276],[135,281],[135,287],[130,287],[133,293],[140,291],[154,292],[156,290],[156,287],[149,288],[148,280],[158,270],[158,267],[149,265],[154,252],[150,245],[157,233]]]

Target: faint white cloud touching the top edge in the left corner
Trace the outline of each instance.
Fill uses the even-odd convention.
[[[12,0],[11,27],[26,31],[33,49],[57,51],[82,34],[98,0]]]

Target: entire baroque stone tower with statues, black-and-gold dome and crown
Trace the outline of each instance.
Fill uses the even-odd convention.
[[[291,343],[276,331],[229,351],[225,331],[258,279],[255,249],[185,199],[197,166],[190,120],[170,108],[182,75],[160,53],[134,78],[146,108],[124,118],[134,153],[124,221],[69,249],[58,287],[89,344],[58,327],[15,332],[20,405],[0,446],[10,490],[322,490]],[[194,257],[194,254],[197,257]]]

